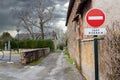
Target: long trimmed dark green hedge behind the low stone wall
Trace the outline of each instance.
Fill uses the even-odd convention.
[[[49,47],[51,51],[54,51],[54,43],[52,40],[11,40],[11,48],[47,48]]]

